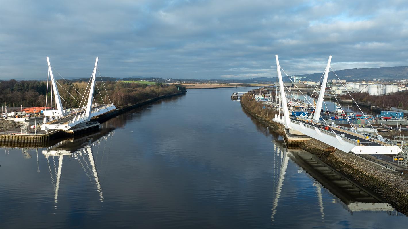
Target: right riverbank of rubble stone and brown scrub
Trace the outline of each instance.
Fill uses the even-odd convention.
[[[255,110],[259,107],[257,104],[252,104],[252,107],[249,107],[243,101],[245,100],[241,100],[242,109],[248,115],[279,135],[285,135],[284,126],[271,121],[270,116],[272,114],[266,113],[264,116],[262,115],[262,107],[261,110]],[[253,101],[253,103],[257,102]],[[317,155],[328,166],[373,190],[399,212],[408,215],[408,179],[404,174],[392,172],[351,153],[334,150],[333,147],[315,139],[304,142],[299,147]]]

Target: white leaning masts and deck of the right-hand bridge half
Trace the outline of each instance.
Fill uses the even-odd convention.
[[[320,142],[324,142],[346,153],[349,153],[349,152],[353,152],[356,154],[361,154],[361,153],[363,154],[375,154],[375,153],[397,154],[397,153],[400,153],[402,151],[400,146],[397,146],[395,143],[393,143],[390,140],[384,139],[383,137],[381,137],[381,135],[377,133],[377,131],[374,131],[375,134],[359,133],[357,131],[357,128],[353,128],[353,126],[352,128],[346,128],[344,126],[336,126],[331,121],[330,121],[331,123],[328,124],[326,120],[320,119],[320,112],[322,109],[323,96],[324,96],[326,84],[327,84],[327,77],[328,77],[328,73],[330,70],[331,58],[332,56],[329,56],[329,59],[326,65],[326,69],[324,71],[324,76],[323,76],[323,80],[322,80],[322,84],[321,84],[321,88],[319,92],[319,98],[314,108],[315,112],[313,114],[313,118],[311,115],[310,116],[308,115],[295,116],[295,118],[291,118],[289,116],[285,88],[284,88],[284,83],[282,80],[282,73],[281,73],[281,67],[279,65],[278,55],[275,55],[276,66],[277,66],[277,78],[279,81],[279,96],[282,102],[283,116],[281,116],[280,114],[279,115],[275,114],[275,118],[273,118],[273,121],[283,124],[285,128],[289,130],[290,133],[298,134],[298,135],[307,135],[309,137],[315,138],[319,140]],[[306,98],[306,96],[304,98]],[[308,114],[308,111],[304,111],[304,113]],[[363,112],[361,111],[361,113]],[[363,113],[363,116],[366,118],[364,113]],[[323,126],[328,126],[330,129],[329,130],[322,129]],[[373,126],[371,127],[373,128]]]

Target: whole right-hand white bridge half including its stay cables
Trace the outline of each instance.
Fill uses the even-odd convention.
[[[277,65],[277,81],[279,83],[279,98],[280,103],[282,103],[282,116],[280,115],[279,105],[278,109],[275,110],[275,118],[273,118],[274,122],[278,122],[283,124],[286,129],[293,129],[295,131],[300,132],[301,135],[307,135],[309,137],[315,138],[321,142],[329,144],[339,150],[342,150],[346,153],[353,152],[356,154],[360,153],[382,153],[382,154],[397,154],[401,152],[401,148],[397,146],[394,142],[390,140],[386,140],[381,135],[375,131],[376,135],[369,135],[365,133],[359,133],[359,130],[351,124],[350,119],[348,118],[346,112],[341,107],[337,97],[333,93],[332,89],[330,88],[330,92],[333,93],[339,108],[341,109],[341,113],[346,117],[350,128],[344,126],[336,126],[336,124],[330,119],[331,123],[329,124],[324,117],[321,117],[322,112],[322,105],[324,104],[325,110],[327,110],[326,101],[324,101],[324,94],[327,86],[327,78],[330,69],[336,75],[337,79],[339,77],[331,68],[331,57],[329,56],[326,68],[322,74],[322,77],[319,79],[318,82],[322,81],[321,86],[319,88],[319,94],[317,94],[317,87],[315,88],[315,98],[310,96],[307,98],[302,91],[297,87],[296,83],[292,81],[292,79],[286,74],[284,69],[279,65],[278,56],[275,55],[276,65]],[[282,80],[282,72],[286,74],[290,82],[294,85],[293,89],[291,90],[288,88]],[[343,83],[342,83],[343,85]],[[344,86],[344,85],[343,85]],[[288,97],[286,97],[286,92],[288,92]],[[351,96],[350,92],[346,89],[349,96],[353,99],[353,102],[357,105],[358,109],[361,111],[363,116],[367,118],[366,114],[361,110],[358,104],[355,102],[353,96]],[[299,102],[299,92],[303,96],[304,101]],[[275,98],[276,98],[275,94]],[[315,99],[317,98],[317,103],[315,103]],[[289,102],[288,102],[289,101]],[[315,103],[315,104],[312,104]],[[293,104],[293,105],[292,105]],[[289,109],[288,108],[296,108],[298,111],[301,111],[300,116],[297,112],[292,112],[294,118],[289,116]],[[312,115],[309,116],[310,109],[313,108],[313,117]],[[369,122],[370,123],[370,122]],[[370,123],[371,128],[374,129],[373,125]]]

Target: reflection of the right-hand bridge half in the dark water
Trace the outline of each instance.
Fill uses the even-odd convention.
[[[316,180],[312,185],[317,192],[322,222],[324,222],[325,215],[324,203],[327,203],[323,201],[322,197],[322,190],[325,188],[337,197],[333,199],[332,203],[337,203],[339,200],[343,207],[351,213],[357,211],[395,211],[390,204],[385,203],[372,191],[344,177],[324,164],[316,155],[304,150],[287,149],[282,143],[275,141],[273,169],[276,175],[273,177],[275,193],[271,209],[272,222],[275,221],[275,214],[279,209],[279,198],[285,193],[284,183],[290,160],[298,164],[310,177]]]

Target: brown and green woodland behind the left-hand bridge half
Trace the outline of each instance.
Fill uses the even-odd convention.
[[[84,101],[87,97],[84,94],[89,93],[88,81],[65,81],[63,79],[57,81],[57,88],[61,97],[62,105],[65,108],[75,108],[80,104],[86,104]],[[140,83],[124,83],[115,81],[95,82],[94,101],[93,103],[113,103],[117,107],[133,105],[140,103],[149,98],[157,96],[170,95],[180,91],[184,91],[182,85],[163,85],[156,83],[155,85],[142,85]],[[0,104],[9,107],[50,107],[51,96],[51,81],[9,81],[0,80]],[[53,96],[54,97],[54,96]],[[46,103],[47,98],[47,105]],[[53,107],[55,107],[55,98],[53,99]]]

